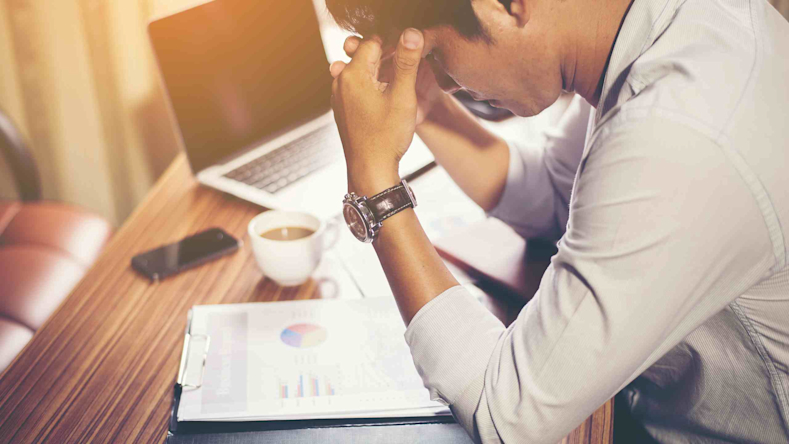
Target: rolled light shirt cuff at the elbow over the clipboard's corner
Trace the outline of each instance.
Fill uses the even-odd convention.
[[[430,398],[455,405],[472,384],[481,384],[504,325],[461,286],[425,304],[411,320],[405,340]],[[481,392],[481,387],[480,387]]]

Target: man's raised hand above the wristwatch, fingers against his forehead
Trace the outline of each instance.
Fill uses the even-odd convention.
[[[347,66],[331,66],[332,107],[351,191],[372,195],[399,181],[398,165],[416,129],[416,82],[423,48],[421,32],[403,32],[388,84],[379,80],[383,54],[378,37],[362,41]]]

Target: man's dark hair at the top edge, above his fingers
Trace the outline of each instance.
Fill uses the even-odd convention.
[[[501,0],[510,3],[511,0]],[[464,37],[487,39],[472,0],[326,0],[337,23],[362,36],[449,25]]]

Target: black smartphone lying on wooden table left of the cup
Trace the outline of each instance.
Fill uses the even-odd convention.
[[[132,258],[132,268],[151,280],[164,279],[238,250],[241,242],[220,228],[186,237]]]

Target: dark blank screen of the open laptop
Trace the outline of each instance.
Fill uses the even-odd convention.
[[[194,172],[329,111],[311,0],[215,0],[148,32]]]

